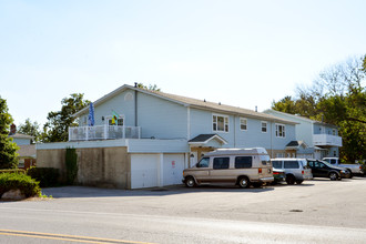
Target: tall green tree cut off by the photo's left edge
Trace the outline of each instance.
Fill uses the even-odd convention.
[[[0,169],[13,169],[18,165],[19,148],[12,142],[12,138],[9,138],[12,122],[7,100],[0,96]]]

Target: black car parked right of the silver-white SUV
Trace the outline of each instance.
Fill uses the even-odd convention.
[[[328,177],[331,181],[349,177],[350,172],[344,167],[334,166],[326,161],[307,160],[307,165],[312,169],[314,177]]]

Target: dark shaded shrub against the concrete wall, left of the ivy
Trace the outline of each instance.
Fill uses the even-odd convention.
[[[40,182],[41,187],[51,187],[58,185],[59,170],[54,167],[35,167],[28,169],[27,174]]]

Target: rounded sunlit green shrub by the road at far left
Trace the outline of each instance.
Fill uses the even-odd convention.
[[[17,189],[19,189],[27,197],[39,195],[41,193],[39,182],[27,174],[0,174],[0,196],[10,190]]]

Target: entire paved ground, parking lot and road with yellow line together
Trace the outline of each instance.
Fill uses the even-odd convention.
[[[0,203],[0,243],[366,243],[366,179],[302,185],[47,189]]]

